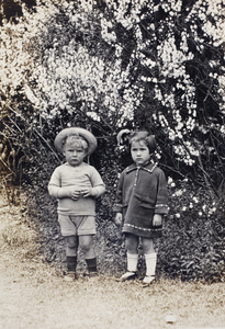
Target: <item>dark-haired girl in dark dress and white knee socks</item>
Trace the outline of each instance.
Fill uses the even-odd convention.
[[[127,272],[121,280],[136,276],[138,243],[142,240],[146,260],[145,284],[155,280],[157,254],[154,238],[161,237],[162,215],[167,214],[167,182],[164,171],[154,162],[155,136],[137,132],[130,138],[134,163],[121,174],[114,205],[115,224],[122,219],[127,250]]]

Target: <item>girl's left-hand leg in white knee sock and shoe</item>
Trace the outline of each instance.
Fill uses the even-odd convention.
[[[137,272],[138,262],[138,237],[132,234],[127,234],[125,238],[126,257],[127,257],[127,272],[121,276],[122,281],[134,279]]]

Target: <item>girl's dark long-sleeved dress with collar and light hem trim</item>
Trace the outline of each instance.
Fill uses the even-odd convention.
[[[156,163],[132,164],[121,174],[114,212],[123,213],[123,232],[159,238],[162,225],[154,226],[155,214],[168,213],[167,181]]]

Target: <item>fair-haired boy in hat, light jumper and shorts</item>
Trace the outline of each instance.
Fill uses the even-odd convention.
[[[78,245],[85,253],[89,276],[97,275],[93,248],[95,234],[95,197],[105,191],[99,172],[83,162],[95,147],[97,139],[80,127],[63,129],[55,138],[55,147],[66,163],[57,167],[48,183],[48,192],[58,200],[58,222],[66,239],[67,281],[76,277]]]

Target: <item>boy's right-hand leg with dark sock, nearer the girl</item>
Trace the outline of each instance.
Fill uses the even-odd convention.
[[[97,273],[97,257],[93,248],[93,236],[79,236],[79,245],[85,253],[88,271],[91,275]]]

